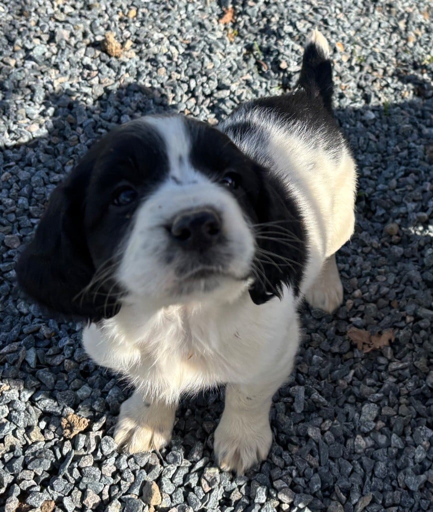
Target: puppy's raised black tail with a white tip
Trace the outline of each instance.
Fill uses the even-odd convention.
[[[332,113],[333,82],[330,53],[325,36],[314,29],[307,38],[298,85],[307,91],[318,92],[326,110]]]

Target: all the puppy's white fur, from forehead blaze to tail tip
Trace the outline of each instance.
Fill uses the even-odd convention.
[[[329,54],[320,33],[310,40]],[[266,146],[261,138],[235,142],[263,164],[272,159],[306,220],[309,258],[301,298],[308,292],[312,305],[333,310],[342,298],[333,254],[354,225],[355,164],[345,142],[338,155],[330,154],[308,126],[288,130],[277,116],[249,111],[248,105],[231,118],[236,119],[247,119],[265,134]],[[125,239],[117,278],[128,294],[120,312],[84,329],[83,344],[98,364],[135,385],[115,433],[129,451],[169,442],[181,395],[228,383],[214,449],[221,467],[243,473],[270,448],[268,413],[298,349],[299,300],[285,288],[281,301],[253,303],[242,276],[254,256],[254,239],[236,200],[192,167],[180,119],[143,122],[163,137],[170,173],[140,206]],[[224,123],[226,131],[230,122]],[[198,283],[185,293],[183,278],[173,271],[176,260],[162,261],[169,244],[164,225],[179,211],[209,206],[221,212],[233,258],[213,286]]]

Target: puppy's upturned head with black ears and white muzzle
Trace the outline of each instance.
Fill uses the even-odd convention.
[[[299,218],[277,189],[205,123],[131,121],[53,192],[18,261],[18,282],[50,310],[93,321],[128,301],[229,301],[247,287],[261,304],[294,282],[289,255],[303,249]],[[294,237],[284,241],[288,228]]]

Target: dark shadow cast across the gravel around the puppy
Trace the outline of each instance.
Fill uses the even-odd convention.
[[[351,484],[341,459],[354,467],[364,464],[354,445],[357,435],[369,432],[362,419],[364,404],[374,402],[382,408],[379,430],[370,436],[377,445],[364,447],[364,452],[373,453],[380,443],[388,448],[392,433],[433,429],[431,385],[425,383],[433,353],[433,232],[429,227],[433,217],[433,99],[431,88],[424,84],[423,90],[426,93],[419,101],[336,111],[359,165],[356,230],[338,258],[346,302],[333,316],[304,308],[306,335],[296,370],[275,396],[271,412],[277,442],[260,469],[263,485],[282,479],[293,493],[305,489],[297,479],[318,474],[320,490],[314,494],[312,485],[310,489],[312,510],[326,508],[335,498],[337,484],[339,492],[349,493]],[[108,91],[93,105],[67,92],[47,97],[43,103],[51,113],[48,132],[3,152],[2,180],[9,190],[9,206],[0,224],[5,278],[0,286],[0,376],[24,382],[28,402],[41,412],[51,438],[63,439],[60,418],[73,411],[92,422],[96,434],[86,442],[96,445],[102,435],[112,433],[119,405],[129,390],[116,375],[87,359],[79,345],[79,326],[48,320],[36,306],[11,293],[14,261],[51,190],[98,137],[121,122],[168,112],[169,106],[163,92],[138,84]],[[7,116],[7,102],[1,106]],[[19,233],[9,230],[11,215],[18,219]],[[371,332],[393,328],[396,340],[392,347],[363,354],[350,344],[349,326]],[[53,374],[57,374],[55,379]],[[411,389],[417,390],[416,395],[410,394]],[[183,400],[167,453],[175,446],[193,464],[213,463],[212,436],[223,409],[222,394]],[[322,441],[317,443],[310,430],[324,422],[330,433],[326,447]],[[21,425],[29,436],[33,435],[30,424],[29,420]],[[402,455],[403,450],[395,449],[396,458]],[[318,466],[316,461],[320,461]],[[55,470],[42,473],[44,485],[49,485],[60,462],[52,464]],[[415,476],[423,475],[427,463],[421,460],[412,470]],[[249,474],[255,475],[257,471]],[[374,478],[367,478],[368,488],[366,482],[359,482],[364,494],[380,491]],[[422,485],[420,492],[431,498],[432,484]]]

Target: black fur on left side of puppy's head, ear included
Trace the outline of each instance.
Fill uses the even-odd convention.
[[[97,269],[116,264],[117,246],[138,205],[113,207],[113,191],[128,182],[143,197],[167,172],[164,142],[154,131],[130,123],[104,136],[51,195],[18,260],[20,287],[42,307],[68,317],[98,321],[116,314],[122,290],[112,272],[83,292]]]

